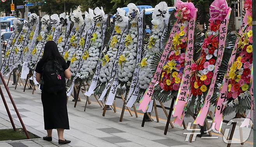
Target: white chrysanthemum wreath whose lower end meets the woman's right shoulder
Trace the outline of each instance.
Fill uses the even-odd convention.
[[[81,12],[74,12],[71,16],[71,21],[74,22],[75,33],[71,36],[70,45],[68,51],[64,54],[64,59],[67,61],[71,61],[73,54],[75,53],[75,49],[77,47],[78,39],[80,37],[80,32],[82,31],[82,26],[84,24],[84,19],[82,18]]]

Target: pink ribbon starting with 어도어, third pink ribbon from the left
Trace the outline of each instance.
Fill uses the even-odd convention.
[[[225,17],[223,21],[221,21],[221,26],[219,28],[219,49],[218,49],[218,55],[217,60],[215,63],[214,73],[212,77],[212,81],[209,87],[209,91],[205,97],[205,102],[201,110],[199,111],[196,120],[194,124],[200,124],[201,126],[204,125],[205,118],[207,117],[208,110],[210,107],[210,99],[212,98],[212,94],[214,91],[214,85],[217,78],[217,73],[219,72],[219,67],[221,66],[221,61],[223,59],[224,49],[225,49],[225,43],[226,43],[226,37],[228,32],[228,22],[230,18],[231,8],[228,9],[228,15]]]

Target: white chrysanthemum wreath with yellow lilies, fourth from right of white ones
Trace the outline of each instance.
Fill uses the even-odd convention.
[[[89,77],[90,74],[92,75],[94,73],[94,69],[96,68],[100,52],[102,50],[102,26],[103,23],[107,21],[107,15],[105,16],[103,8],[100,9],[99,7],[96,7],[94,12],[96,15],[96,30],[92,34],[91,45],[88,51],[85,51],[82,56],[82,59],[86,61],[86,63],[82,65],[80,72],[78,73],[78,77],[80,79],[86,79]]]

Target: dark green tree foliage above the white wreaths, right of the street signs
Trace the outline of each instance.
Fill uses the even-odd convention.
[[[35,7],[49,15],[61,14],[65,10],[67,12],[79,6],[79,0],[30,0],[29,2],[35,3]]]

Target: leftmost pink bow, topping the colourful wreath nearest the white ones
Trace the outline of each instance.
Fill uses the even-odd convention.
[[[189,20],[195,16],[196,8],[191,2],[182,2],[181,0],[177,0],[175,7],[177,7],[177,12],[175,13],[176,18]]]

